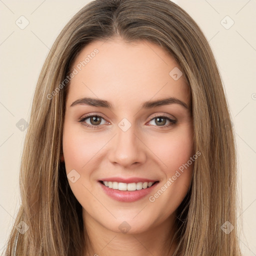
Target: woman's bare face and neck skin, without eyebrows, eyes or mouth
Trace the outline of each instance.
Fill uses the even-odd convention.
[[[161,188],[175,171],[189,160],[193,151],[193,126],[190,94],[183,75],[174,80],[169,72],[179,67],[160,46],[148,41],[126,43],[119,38],[86,45],[72,68],[95,48],[99,52],[70,81],[63,127],[63,158],[66,173],[75,169],[80,177],[69,185],[82,205],[83,222],[92,243],[86,255],[167,255],[174,214],[187,193],[193,164],[158,197],[148,197]],[[180,69],[180,68],[179,68]],[[113,108],[72,102],[82,97],[108,100]],[[173,103],[140,109],[147,100],[176,97],[188,109]],[[98,128],[82,125],[86,114],[104,118]],[[177,120],[173,125],[154,114]],[[126,118],[127,131],[118,123]],[[90,118],[84,120],[95,125]],[[99,123],[99,122],[98,122]],[[167,126],[161,128],[161,126]],[[102,177],[144,177],[158,180],[153,192],[134,202],[112,199],[100,188]],[[118,226],[126,221],[127,233]],[[176,244],[173,243],[170,252]]]

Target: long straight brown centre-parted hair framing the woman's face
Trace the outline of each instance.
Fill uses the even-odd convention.
[[[58,35],[36,85],[20,167],[21,205],[5,255],[82,256],[90,244],[81,205],[59,160],[68,88],[63,81],[85,45],[108,38],[161,46],[179,63],[190,87],[194,145],[201,155],[177,209],[174,254],[241,255],[236,236],[235,142],[221,78],[200,28],[169,0],[91,1]],[[224,232],[224,223],[235,228]]]

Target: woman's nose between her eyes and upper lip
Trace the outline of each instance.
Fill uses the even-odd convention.
[[[133,126],[126,131],[117,126],[117,134],[111,139],[111,151],[108,156],[111,163],[129,167],[145,162],[146,146],[141,142]]]

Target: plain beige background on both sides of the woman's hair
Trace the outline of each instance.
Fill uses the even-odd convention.
[[[26,130],[18,129],[16,123],[21,118],[28,121],[35,84],[56,36],[87,2],[0,0],[0,252],[20,203],[18,176]],[[238,219],[243,222],[239,241],[244,255],[253,256],[256,255],[256,0],[175,2],[203,30],[224,82],[238,152],[241,205]],[[29,21],[24,29],[15,23],[21,15]],[[234,24],[226,29],[232,20]]]

